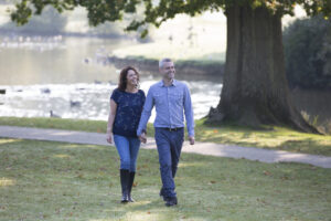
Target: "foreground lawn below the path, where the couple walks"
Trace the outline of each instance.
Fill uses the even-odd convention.
[[[2,138],[0,220],[331,219],[330,169],[183,154],[166,208],[157,150],[140,150],[135,203],[119,203],[118,166],[111,146]]]

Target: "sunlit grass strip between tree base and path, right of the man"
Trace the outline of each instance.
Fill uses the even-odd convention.
[[[299,133],[289,128],[255,130],[238,126],[206,126],[196,120],[196,140],[331,156],[331,136]]]

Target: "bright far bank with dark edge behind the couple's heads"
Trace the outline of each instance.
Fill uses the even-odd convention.
[[[203,45],[191,45],[186,41],[160,40],[114,50],[109,53],[108,61],[118,69],[130,64],[141,71],[159,73],[158,62],[169,57],[175,63],[177,76],[191,75],[195,78],[204,75],[205,78],[213,76],[222,78],[225,64],[225,51],[222,49],[221,43],[205,42]]]

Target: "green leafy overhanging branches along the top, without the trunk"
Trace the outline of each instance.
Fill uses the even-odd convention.
[[[233,4],[249,4],[252,8],[266,7],[271,13],[293,14],[297,4],[303,7],[308,15],[323,13],[331,15],[330,0],[20,0],[11,11],[11,19],[19,25],[25,24],[31,15],[41,14],[46,6],[53,6],[58,12],[84,7],[88,11],[90,25],[106,21],[122,20],[124,14],[135,14],[138,8],[143,8],[141,19],[132,17],[127,31],[137,30],[147,24],[160,27],[162,22],[185,13],[191,17],[204,11],[220,11]],[[147,28],[141,33],[146,35]]]

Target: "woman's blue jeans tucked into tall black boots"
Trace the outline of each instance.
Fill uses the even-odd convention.
[[[115,146],[120,158],[120,169],[136,172],[136,161],[140,147],[140,140],[136,137],[114,135]]]

